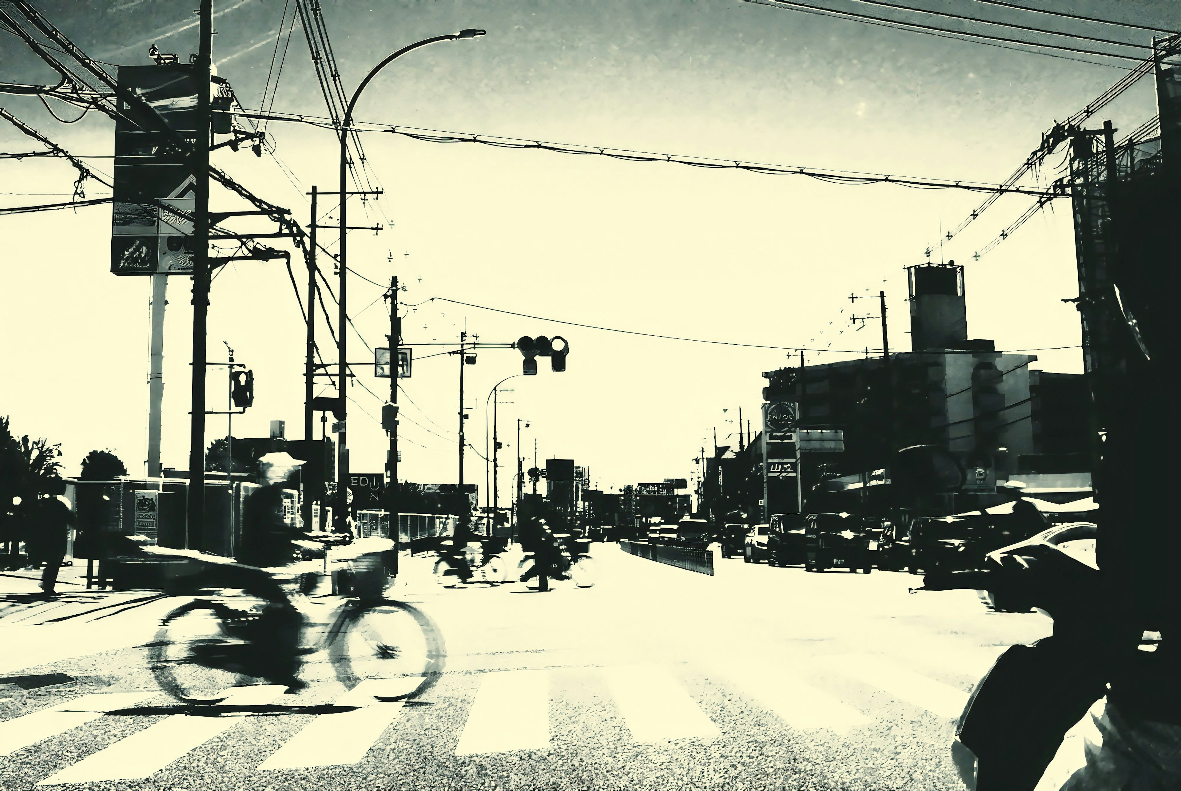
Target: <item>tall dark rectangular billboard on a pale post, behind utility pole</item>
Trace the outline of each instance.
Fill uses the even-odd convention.
[[[193,66],[119,66],[118,80],[122,90],[143,97],[171,129],[196,144],[200,124]],[[152,129],[141,110],[119,102],[111,272],[190,275],[196,177],[168,136]]]

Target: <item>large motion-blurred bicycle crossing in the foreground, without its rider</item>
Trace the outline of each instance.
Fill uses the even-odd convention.
[[[378,700],[420,697],[445,667],[443,638],[429,615],[383,595],[387,577],[380,550],[368,545],[373,542],[383,542],[386,551],[393,545],[366,538],[333,558],[347,571],[337,576],[352,584],[341,586],[351,588],[344,594],[317,597],[335,600],[331,603],[302,593],[260,603],[248,594],[201,590],[203,595],[164,616],[150,645],[149,665],[157,684],[190,705],[221,702],[228,689],[256,679],[287,684],[288,692],[295,692],[307,686],[300,673],[319,663],[305,658],[319,654],[347,689],[373,681]],[[217,562],[204,555],[198,560]],[[288,576],[306,574],[300,574],[299,564],[283,570]]]

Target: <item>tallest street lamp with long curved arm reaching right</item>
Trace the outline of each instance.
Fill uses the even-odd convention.
[[[454,41],[454,40],[457,40],[457,39],[474,39],[474,38],[484,35],[484,33],[485,33],[485,31],[481,31],[481,30],[476,30],[476,28],[466,28],[466,30],[459,31],[458,33],[452,33],[450,35],[436,35],[436,37],[430,38],[430,39],[423,39],[422,41],[416,41],[415,44],[411,44],[409,46],[402,47],[397,52],[387,55],[385,58],[385,60],[383,60],[377,66],[374,66],[373,68],[371,68],[370,73],[365,76],[365,79],[361,80],[361,84],[357,86],[357,90],[353,92],[353,98],[350,99],[348,107],[345,110],[345,117],[340,122],[340,255],[339,255],[339,259],[338,259],[338,261],[339,261],[339,269],[340,269],[340,273],[339,273],[339,276],[340,276],[340,286],[339,286],[339,289],[340,289],[340,296],[339,296],[339,301],[340,301],[340,316],[339,316],[340,329],[339,329],[339,334],[337,335],[337,338],[339,339],[338,340],[339,348],[337,351],[338,351],[339,359],[340,359],[340,366],[338,368],[338,377],[337,377],[337,380],[340,383],[339,390],[338,390],[338,397],[340,398],[340,433],[339,433],[339,437],[338,437],[339,447],[340,447],[340,463],[337,464],[337,498],[338,498],[337,502],[339,503],[339,506],[337,508],[337,515],[335,515],[335,522],[337,522],[337,529],[338,529],[338,531],[342,530],[342,528],[345,525],[345,512],[347,511],[347,505],[348,505],[348,499],[347,499],[347,495],[346,495],[346,492],[348,491],[348,450],[347,450],[347,442],[346,442],[346,436],[347,436],[346,427],[347,427],[347,424],[345,421],[345,419],[346,419],[346,412],[347,412],[347,405],[348,405],[348,399],[345,397],[345,383],[347,383],[347,371],[346,370],[348,367],[347,364],[346,364],[346,360],[348,359],[348,357],[346,354],[346,346],[347,346],[347,339],[348,339],[348,332],[347,332],[348,314],[345,312],[346,310],[346,305],[347,305],[347,300],[346,300],[346,296],[347,296],[346,283],[347,283],[347,281],[346,281],[346,276],[345,275],[348,272],[348,255],[347,255],[347,253],[348,253],[348,237],[346,235],[346,231],[347,231],[347,228],[348,228],[348,222],[347,222],[348,201],[346,200],[347,198],[347,194],[345,192],[345,174],[348,170],[348,129],[350,129],[350,126],[352,126],[352,122],[353,122],[353,107],[357,106],[357,99],[360,98],[361,91],[364,91],[365,86],[370,84],[370,80],[373,79],[379,71],[381,71],[383,68],[385,68],[391,63],[393,63],[394,60],[397,60],[402,55],[406,54],[407,52],[410,52],[412,50],[417,50],[419,47],[424,47],[428,44],[435,44],[437,41]],[[394,300],[394,310],[397,310],[397,300]],[[391,354],[396,355],[397,354],[397,349],[392,351]],[[397,377],[397,357],[394,357],[394,370],[392,371],[392,375]],[[392,478],[392,476],[391,476],[391,478]],[[396,491],[398,482],[391,479],[390,481],[390,485],[393,486],[394,491]]]

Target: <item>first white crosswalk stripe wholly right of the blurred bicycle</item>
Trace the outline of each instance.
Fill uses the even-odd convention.
[[[549,747],[549,673],[484,673],[455,754]]]

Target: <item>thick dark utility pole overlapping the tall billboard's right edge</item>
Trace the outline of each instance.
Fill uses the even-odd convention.
[[[193,223],[193,412],[189,434],[187,549],[201,549],[205,525],[205,331],[209,310],[209,76],[213,65],[213,0],[201,0],[200,43],[194,65],[197,89],[197,144]]]

